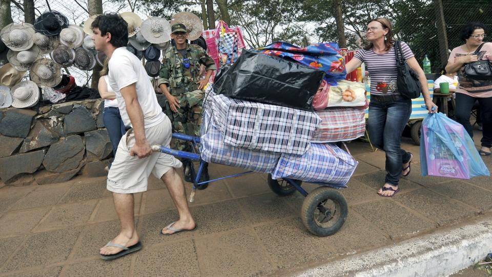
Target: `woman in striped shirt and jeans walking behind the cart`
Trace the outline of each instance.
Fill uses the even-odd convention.
[[[367,40],[370,44],[357,52],[354,59],[346,64],[347,73],[365,63],[371,75],[371,103],[367,131],[371,142],[386,153],[386,178],[378,195],[392,197],[400,188],[400,175],[410,174],[412,153],[401,149],[401,134],[412,113],[412,100],[403,97],[398,91],[396,79],[395,48],[393,47],[392,25],[386,18],[376,18],[367,25]],[[419,75],[422,95],[429,113],[435,104],[430,98],[427,79],[412,50],[405,42],[401,43],[403,57],[408,66]]]

